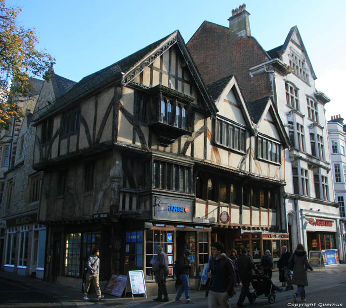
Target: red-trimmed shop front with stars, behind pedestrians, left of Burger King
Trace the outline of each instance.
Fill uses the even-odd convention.
[[[255,263],[260,262],[266,250],[270,251],[274,261],[274,268],[282,254],[282,246],[289,247],[288,233],[243,233],[236,235],[234,239],[234,249],[237,254],[241,254],[241,249],[245,247],[253,257]]]

